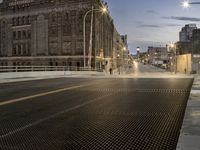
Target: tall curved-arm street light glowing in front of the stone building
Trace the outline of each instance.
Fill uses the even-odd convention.
[[[84,18],[83,18],[83,55],[84,55],[84,68],[86,67],[86,40],[85,40],[85,20],[86,20],[86,17],[89,13],[93,12],[93,11],[100,11],[102,12],[103,14],[107,13],[108,12],[108,9],[106,6],[103,6],[101,7],[100,9],[94,9],[94,6],[92,6],[92,9],[87,11],[84,15]],[[91,19],[92,20],[92,19]],[[92,28],[92,24],[91,24],[91,28]]]

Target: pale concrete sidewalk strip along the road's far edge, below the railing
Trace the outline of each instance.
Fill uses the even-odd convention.
[[[144,70],[149,68],[145,66]],[[147,69],[148,70],[148,69]],[[132,73],[131,73],[132,72]],[[108,72],[95,71],[41,71],[41,72],[9,72],[0,73],[0,83],[54,79],[54,78],[191,78],[183,74],[172,74],[161,69],[151,67],[147,72],[138,72],[135,70],[113,70],[113,74]],[[200,80],[199,80],[200,83]]]

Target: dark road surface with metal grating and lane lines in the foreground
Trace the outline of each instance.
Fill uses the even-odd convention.
[[[0,84],[0,149],[176,149],[192,79]]]

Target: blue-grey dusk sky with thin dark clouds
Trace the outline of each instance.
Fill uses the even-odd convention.
[[[129,50],[166,46],[179,40],[185,24],[200,27],[200,5],[183,8],[183,0],[105,0],[120,34],[128,35]],[[190,0],[192,2],[192,0]],[[195,2],[200,2],[196,0]]]

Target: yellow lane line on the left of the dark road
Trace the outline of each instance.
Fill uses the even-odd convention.
[[[46,95],[50,95],[50,94],[60,93],[60,92],[68,91],[68,90],[78,89],[78,88],[81,88],[81,87],[86,87],[88,85],[89,84],[73,86],[73,87],[58,89],[58,90],[54,90],[54,91],[50,91],[50,92],[44,92],[44,93],[35,94],[35,95],[31,95],[31,96],[26,96],[26,97],[16,98],[16,99],[12,99],[12,100],[7,100],[5,102],[0,102],[0,106],[12,104],[12,103],[17,103],[17,102],[21,102],[21,101],[26,101],[26,100],[29,100],[29,99],[42,97],[42,96],[46,96]]]

